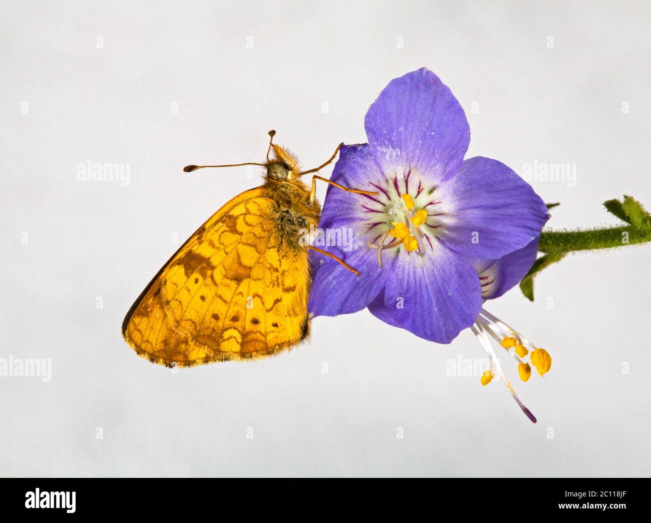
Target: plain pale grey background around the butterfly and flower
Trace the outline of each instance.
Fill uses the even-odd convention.
[[[485,358],[469,331],[435,345],[362,311],[276,358],[178,373],[120,336],[174,235],[258,184],[184,165],[259,162],[271,128],[318,165],[421,66],[464,107],[468,157],[575,164],[575,186],[533,182],[562,203],[550,227],[614,225],[602,202],[623,194],[651,206],[648,2],[2,11],[0,358],[51,358],[52,379],[0,378],[1,475],[649,475],[650,246],[568,257],[533,304],[488,304],[553,357],[526,384],[502,359],[536,425],[501,383],[447,375]],[[130,163],[130,184],[77,181],[89,159]]]

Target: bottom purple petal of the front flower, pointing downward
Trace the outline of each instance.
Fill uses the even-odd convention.
[[[398,326],[430,341],[450,343],[475,322],[482,307],[477,272],[443,244],[422,258],[402,253],[387,279],[384,306]],[[386,321],[376,307],[371,312]]]

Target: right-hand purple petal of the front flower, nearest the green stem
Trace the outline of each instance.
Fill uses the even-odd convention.
[[[499,259],[538,238],[549,219],[533,188],[497,160],[465,160],[458,175],[437,188],[445,215],[439,238],[471,259]]]

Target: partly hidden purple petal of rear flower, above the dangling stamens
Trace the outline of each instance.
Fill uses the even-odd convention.
[[[508,253],[499,260],[475,262],[484,300],[499,298],[507,290],[518,285],[536,261],[539,239],[536,238],[529,245]]]

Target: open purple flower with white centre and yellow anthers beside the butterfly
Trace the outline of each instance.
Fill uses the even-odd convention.
[[[378,195],[331,186],[319,224],[353,230],[353,250],[330,250],[360,275],[312,259],[309,310],[316,317],[368,307],[393,326],[450,343],[480,318],[483,300],[527,272],[547,208],[503,163],[464,160],[464,110],[426,68],[391,81],[365,127],[368,144],[342,147],[331,180]]]

